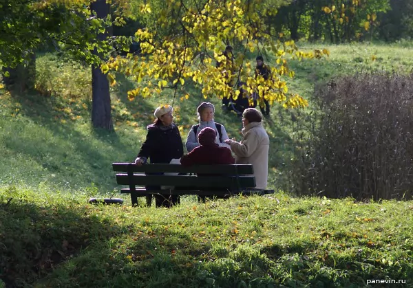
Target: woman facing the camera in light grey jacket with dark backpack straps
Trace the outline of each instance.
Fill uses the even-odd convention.
[[[215,143],[218,144],[218,146],[229,148],[229,145],[224,142],[228,139],[224,125],[213,120],[215,113],[213,104],[210,102],[202,102],[200,106],[198,106],[197,112],[200,123],[193,125],[188,133],[187,142],[185,143],[187,151],[191,152],[195,147],[200,146],[198,142],[198,133],[205,127],[210,127],[217,132]]]

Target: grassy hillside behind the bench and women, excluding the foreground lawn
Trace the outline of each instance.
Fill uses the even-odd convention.
[[[325,46],[304,44],[304,49]],[[330,57],[321,60],[293,60],[296,72],[287,79],[292,93],[311,98],[316,82],[332,76],[357,71],[399,71],[407,73],[413,67],[413,52],[403,45],[342,45],[328,46]],[[375,57],[374,61],[372,56]],[[271,65],[271,58],[269,64]],[[1,184],[36,187],[39,184],[57,189],[84,189],[106,193],[116,183],[112,162],[131,162],[145,140],[145,127],[153,121],[153,110],[161,103],[171,104],[172,91],[156,98],[127,100],[126,91],[133,84],[118,76],[120,85],[112,90],[112,112],[116,133],[92,131],[89,125],[91,109],[90,74],[67,58],[52,54],[37,60],[36,87],[38,94],[13,95],[0,92],[1,120],[0,166]],[[194,95],[197,95],[194,93]],[[204,99],[192,97],[174,104],[175,121],[181,127],[183,141],[191,124],[196,122],[195,108]],[[242,123],[233,113],[223,114],[220,100],[215,104],[215,120],[222,122],[230,137],[240,139]],[[310,109],[307,109],[310,111]],[[269,186],[288,190],[288,164],[293,157],[293,140],[302,132],[305,113],[275,106],[264,126],[271,139]],[[294,120],[294,121],[293,121]],[[12,170],[10,170],[12,168]],[[24,175],[19,177],[17,175]]]

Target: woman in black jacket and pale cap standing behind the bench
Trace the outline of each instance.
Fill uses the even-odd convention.
[[[178,127],[173,124],[172,107],[169,105],[158,107],[154,115],[156,121],[147,126],[147,138],[135,160],[136,165],[147,163],[148,158],[151,164],[169,164],[172,159],[178,159],[184,155]],[[160,190],[160,186],[147,186],[146,189]],[[156,207],[170,207],[171,204],[179,202],[179,197],[172,195],[170,199],[165,199],[162,195],[155,195],[155,200]],[[151,206],[151,201],[151,195],[147,196],[148,206]]]

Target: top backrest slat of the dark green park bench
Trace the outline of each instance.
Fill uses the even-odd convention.
[[[129,163],[113,163],[112,168],[115,172],[127,172]],[[251,164],[232,164],[232,165],[197,165],[185,167],[180,164],[144,164],[137,166],[132,164],[133,172],[141,173],[216,173],[226,175],[253,174]]]

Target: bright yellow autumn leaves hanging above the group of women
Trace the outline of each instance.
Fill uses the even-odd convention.
[[[179,23],[182,32],[160,36],[149,29],[140,29],[135,39],[140,43],[141,54],[110,58],[101,69],[104,73],[122,72],[136,82],[136,88],[127,92],[129,100],[158,95],[163,89],[179,89],[178,95],[183,101],[191,96],[187,86],[198,88],[196,91],[201,91],[203,98],[236,98],[235,84],[243,81],[247,83],[248,96],[257,93],[260,101],[266,98],[284,107],[306,107],[306,100],[288,93],[282,80],[285,76],[295,76],[288,67],[287,57],[321,58],[329,52],[326,49],[300,52],[294,41],[274,41],[264,29],[260,2],[244,5],[240,0],[207,1],[202,9],[195,9],[184,6],[181,1],[166,1],[160,11],[151,10],[149,3],[142,4],[141,12],[156,16],[158,25]],[[167,17],[171,9],[182,11],[178,19]],[[222,55],[224,43],[229,39],[236,39],[242,45],[237,48],[239,53],[234,54],[233,63]],[[269,80],[255,78],[255,60],[245,57],[245,52],[257,50],[275,56]],[[215,63],[222,65],[216,67]],[[116,84],[110,74],[109,81],[111,85]]]

